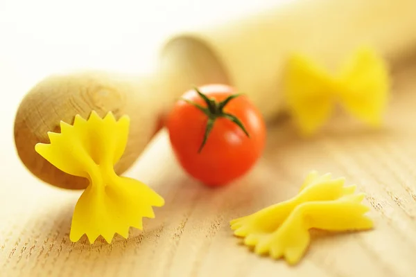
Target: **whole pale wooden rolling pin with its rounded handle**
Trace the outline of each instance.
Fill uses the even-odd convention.
[[[52,75],[35,85],[15,118],[15,143],[35,176],[62,188],[80,189],[88,181],[51,166],[35,152],[59,132],[60,120],[72,123],[92,110],[131,118],[121,174],[136,161],[157,131],[159,119],[191,84],[232,84],[247,93],[266,120],[284,111],[281,77],[294,51],[323,66],[336,66],[356,46],[374,46],[392,66],[416,49],[415,0],[295,1],[207,30],[171,37],[161,49],[157,71],[146,76],[104,72]]]

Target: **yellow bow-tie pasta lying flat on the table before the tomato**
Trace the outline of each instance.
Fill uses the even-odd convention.
[[[268,253],[295,265],[309,246],[309,229],[372,229],[373,222],[365,215],[369,208],[361,204],[365,195],[354,194],[356,186],[344,186],[344,182],[311,172],[298,195],[232,220],[231,229],[244,238],[244,244],[254,247],[254,253]]]

